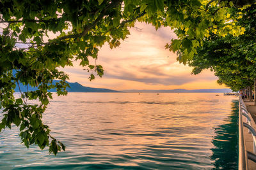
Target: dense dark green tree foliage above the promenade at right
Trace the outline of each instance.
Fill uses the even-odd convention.
[[[234,9],[234,13],[239,9]],[[211,69],[218,76],[218,83],[230,89],[252,89],[256,80],[256,5],[243,10],[243,17],[237,19],[237,25],[245,28],[240,36],[218,36],[211,33],[198,46],[197,54],[188,60],[193,66],[193,74]],[[254,85],[254,90],[255,85]],[[255,102],[256,104],[256,102]]]

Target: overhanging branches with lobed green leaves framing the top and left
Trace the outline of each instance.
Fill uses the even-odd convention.
[[[58,67],[72,66],[74,60],[102,76],[102,66],[90,64],[97,59],[99,48],[108,43],[110,48],[120,45],[129,35],[134,22],[147,22],[158,29],[171,27],[178,36],[166,48],[177,52],[186,64],[198,54],[198,46],[211,34],[238,36],[245,31],[236,24],[243,17],[244,4],[253,1],[217,0],[3,0],[0,2],[0,107],[3,120],[0,130],[20,127],[22,143],[36,144],[41,149],[49,146],[49,153],[65,150],[65,146],[50,135],[42,122],[52,99],[50,89],[58,95],[67,94],[68,75]],[[237,11],[237,7],[243,7]],[[60,80],[52,83],[52,80]],[[38,90],[20,92],[23,85]],[[38,104],[29,101],[37,100]]]

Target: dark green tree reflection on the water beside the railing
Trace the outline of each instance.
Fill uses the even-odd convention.
[[[231,103],[231,115],[225,118],[225,124],[215,128],[216,136],[212,139],[211,159],[214,160],[213,169],[237,169],[238,160],[238,101]]]

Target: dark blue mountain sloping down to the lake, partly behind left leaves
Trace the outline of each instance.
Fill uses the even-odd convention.
[[[56,83],[57,80],[54,80],[53,83]],[[28,91],[32,91],[32,90],[36,90],[37,88],[36,87],[31,87],[31,86],[28,86],[28,89],[25,85],[22,85],[21,83],[20,84],[20,91],[22,92],[26,92],[27,90]],[[104,92],[120,92],[120,91],[116,91],[116,90],[110,90],[110,89],[100,89],[100,88],[93,88],[93,87],[84,87],[83,85],[79,84],[79,83],[69,83],[68,84],[70,85],[70,88],[68,87],[67,88],[67,91],[68,92],[100,92],[100,93],[104,93]],[[14,89],[15,92],[19,92],[19,87],[18,85],[16,84],[16,88]],[[50,92],[56,92],[56,89],[51,89]]]

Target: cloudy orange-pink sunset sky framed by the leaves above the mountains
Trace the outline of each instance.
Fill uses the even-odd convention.
[[[194,75],[191,74],[192,67],[177,62],[176,54],[164,47],[176,38],[170,27],[156,31],[152,25],[137,22],[130,32],[131,35],[121,41],[119,47],[111,50],[106,43],[99,50],[96,62],[103,66],[102,78],[95,76],[95,80],[88,80],[89,73],[74,62],[74,67],[62,69],[69,75],[68,81],[113,90],[227,88],[216,83],[218,78],[213,72],[205,70]]]

